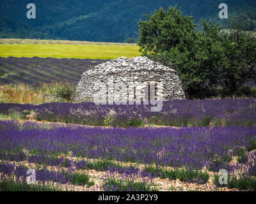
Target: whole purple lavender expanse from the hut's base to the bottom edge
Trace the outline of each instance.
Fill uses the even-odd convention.
[[[161,112],[148,108],[1,104],[1,189],[255,191],[255,99],[173,100]],[[28,169],[36,173],[32,186]],[[221,169],[227,185],[218,182]]]

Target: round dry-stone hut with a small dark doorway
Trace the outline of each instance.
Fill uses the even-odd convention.
[[[138,94],[141,94],[140,97]],[[147,57],[120,57],[88,69],[83,73],[76,90],[76,101],[184,98],[177,71]]]

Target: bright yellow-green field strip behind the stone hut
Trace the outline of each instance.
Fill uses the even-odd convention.
[[[116,59],[137,57],[141,55],[138,50],[135,45],[15,44],[0,45],[0,56]]]

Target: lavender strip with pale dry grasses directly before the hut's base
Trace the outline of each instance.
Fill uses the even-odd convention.
[[[94,103],[3,103],[2,117],[46,120],[92,126],[244,126],[256,125],[255,99],[163,101],[160,112],[150,105],[95,105]]]

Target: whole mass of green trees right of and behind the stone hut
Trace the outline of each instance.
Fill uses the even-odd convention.
[[[216,96],[218,86],[232,96],[256,79],[256,39],[241,27],[221,31],[218,24],[202,20],[203,30],[196,31],[193,18],[177,6],[146,17],[139,22],[140,52],[175,68],[187,98]]]

